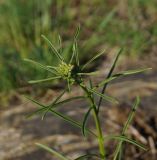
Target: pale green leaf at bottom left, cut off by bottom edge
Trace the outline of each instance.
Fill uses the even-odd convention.
[[[41,143],[35,143],[38,147],[46,150],[47,152],[51,153],[52,155],[55,155],[57,158],[61,159],[61,160],[69,160],[68,158],[66,158],[65,156],[61,155],[59,152],[51,149],[50,147],[48,146],[45,146]]]

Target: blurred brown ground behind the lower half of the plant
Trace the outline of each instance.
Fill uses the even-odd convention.
[[[95,82],[101,81],[106,76],[110,62],[116,49],[110,51],[110,56],[99,65],[101,74],[94,78]],[[149,59],[149,60],[148,60]],[[152,67],[151,71],[136,76],[118,79],[109,85],[107,94],[116,97],[119,104],[113,105],[102,103],[101,118],[103,133],[120,133],[123,123],[126,121],[128,112],[136,95],[140,95],[141,104],[138,108],[136,118],[128,130],[128,136],[144,145],[147,152],[125,144],[123,152],[124,160],[156,160],[157,159],[157,56],[149,54],[142,59],[122,58],[117,71],[135,69],[136,67]],[[42,103],[50,102],[60,90],[48,90],[47,93],[36,99]],[[70,94],[64,98],[81,95],[82,91],[74,87]],[[17,97],[20,103],[17,102]],[[12,101],[8,107],[0,109],[0,160],[55,160],[52,155],[39,149],[35,143],[43,143],[64,153],[70,159],[97,152],[97,142],[92,136],[83,138],[80,129],[63,122],[61,119],[47,114],[45,120],[41,116],[27,119],[26,115],[34,111],[37,106],[19,96]],[[87,103],[83,100],[70,102],[59,108],[60,112],[71,116],[75,120],[82,121]],[[93,121],[90,119],[88,126],[94,130]],[[112,159],[116,142],[107,141],[108,159]],[[90,158],[91,159],[91,158]]]

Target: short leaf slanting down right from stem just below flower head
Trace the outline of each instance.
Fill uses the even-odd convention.
[[[104,100],[106,100],[106,101],[108,101],[108,102],[118,103],[118,101],[117,101],[115,98],[113,98],[113,97],[107,96],[107,95],[105,95],[105,94],[101,94],[101,93],[97,92],[97,91],[94,90],[94,89],[88,88],[88,90],[89,90],[90,92],[96,94],[97,96],[102,97]]]

